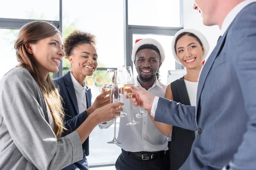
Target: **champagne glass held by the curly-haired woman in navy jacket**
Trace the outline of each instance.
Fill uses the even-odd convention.
[[[103,79],[103,83],[102,83],[102,93],[104,93],[105,91],[110,91],[111,90],[111,85],[113,83],[113,79],[116,77],[116,70],[107,69],[107,72],[105,74],[105,77]],[[101,122],[100,124],[104,125],[107,124],[108,122]]]

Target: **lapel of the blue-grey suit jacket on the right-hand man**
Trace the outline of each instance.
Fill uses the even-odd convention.
[[[222,38],[218,41],[216,47],[213,49],[212,53],[210,54],[210,56],[208,57],[207,61],[204,64],[204,67],[202,68],[200,77],[199,77],[199,81],[198,81],[198,90],[197,90],[197,96],[196,96],[196,108],[198,108],[198,104],[199,104],[199,99],[202,93],[202,90],[204,88],[204,83],[205,80],[207,79],[207,76],[209,74],[209,71],[212,68],[212,64],[215,61],[215,58],[218,56],[218,54],[221,52],[226,37],[227,37],[227,32],[230,29],[230,27],[233,25],[233,22],[230,24],[229,28],[227,29],[227,31],[225,32],[225,34],[222,36]],[[197,114],[197,111],[196,111]],[[197,117],[197,115],[196,115]]]

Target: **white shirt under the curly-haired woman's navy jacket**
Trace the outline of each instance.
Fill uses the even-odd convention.
[[[79,108],[79,114],[82,113],[83,111],[85,111],[87,109],[87,105],[86,105],[86,91],[85,88],[86,86],[81,86],[80,83],[76,80],[76,78],[73,76],[73,74],[70,71],[70,76],[71,76],[71,80],[73,82],[74,88],[75,88],[75,92],[76,92],[76,100],[78,103],[78,108]]]

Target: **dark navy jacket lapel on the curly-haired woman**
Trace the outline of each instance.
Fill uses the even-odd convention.
[[[76,91],[75,91],[72,79],[70,77],[70,71],[67,72],[67,74],[65,74],[63,76],[63,78],[65,80],[65,86],[67,88],[67,93],[69,94],[72,104],[76,110],[76,115],[78,115],[79,114],[78,102],[76,99]]]

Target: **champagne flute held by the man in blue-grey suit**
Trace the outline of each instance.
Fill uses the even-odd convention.
[[[121,82],[123,84],[123,89],[129,97],[130,106],[131,106],[131,122],[127,123],[126,125],[137,125],[140,122],[134,121],[132,103],[131,103],[131,97],[132,97],[133,91],[131,91],[130,86],[134,85],[134,79],[133,79],[133,73],[132,73],[131,66],[119,67],[118,68],[118,73],[119,73],[119,77],[121,79]]]

